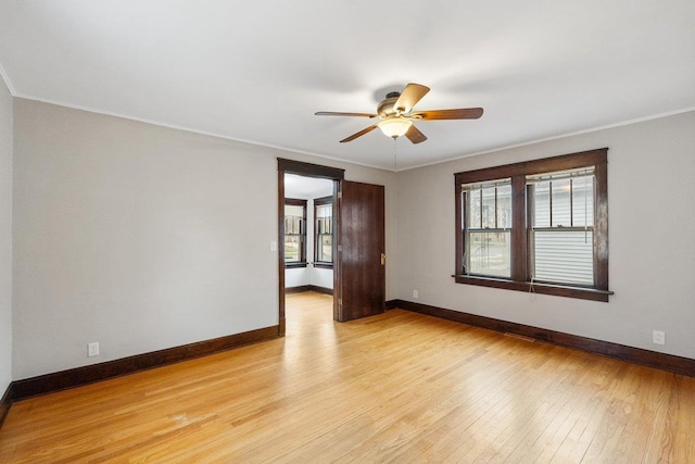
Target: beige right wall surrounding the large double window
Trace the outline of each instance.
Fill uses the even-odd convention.
[[[603,147],[609,148],[610,302],[454,283],[454,173]],[[399,173],[396,293],[693,359],[694,174],[695,112]],[[666,331],[666,346],[652,343],[654,329]]]

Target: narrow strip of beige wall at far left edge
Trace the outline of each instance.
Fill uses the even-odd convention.
[[[0,77],[0,397],[12,380],[12,120]]]

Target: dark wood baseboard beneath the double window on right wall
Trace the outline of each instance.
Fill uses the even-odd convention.
[[[544,328],[528,326],[523,324],[510,323],[507,321],[494,319],[476,314],[462,313],[453,310],[430,306],[412,301],[392,300],[395,308],[427,314],[447,321],[482,327],[503,334],[515,334],[522,337],[530,337],[534,340],[545,341],[560,347],[572,348],[590,353],[602,354],[647,367],[668,371],[675,374],[695,377],[695,360],[690,358],[675,356],[673,354],[659,353],[641,348],[627,347],[624,344],[612,343],[610,341],[595,340],[561,331],[548,330]]]

